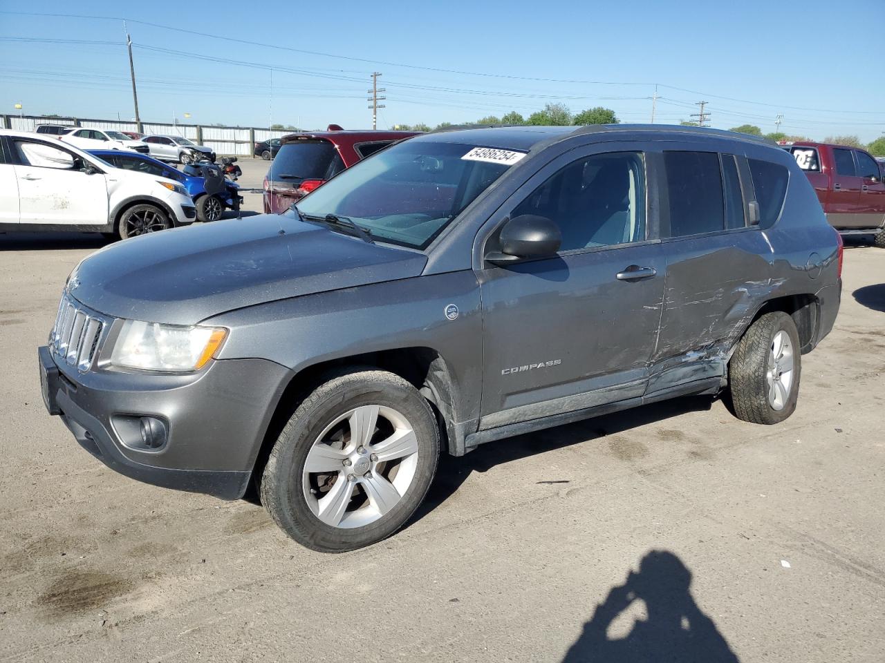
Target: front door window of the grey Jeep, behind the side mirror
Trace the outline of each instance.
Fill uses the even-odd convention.
[[[558,171],[520,202],[512,217],[550,218],[562,232],[560,251],[645,239],[643,156],[588,156]]]

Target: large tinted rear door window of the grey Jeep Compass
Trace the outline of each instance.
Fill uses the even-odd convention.
[[[670,199],[670,236],[723,230],[725,208],[719,155],[664,152],[664,165]]]

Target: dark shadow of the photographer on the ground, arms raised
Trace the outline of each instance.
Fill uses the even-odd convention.
[[[672,552],[650,551],[627,581],[609,591],[562,663],[738,663],[735,652],[691,596],[691,572]],[[612,622],[643,601],[647,619],[627,636],[609,637]]]

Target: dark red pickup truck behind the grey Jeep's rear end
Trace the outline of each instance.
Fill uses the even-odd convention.
[[[830,225],[843,234],[875,233],[876,246],[885,248],[885,182],[868,152],[821,142],[784,149],[805,171]]]

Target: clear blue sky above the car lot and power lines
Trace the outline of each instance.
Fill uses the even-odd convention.
[[[658,83],[657,122],[689,119],[705,99],[712,126],[722,128],[750,123],[769,132],[782,113],[782,131],[812,138],[872,141],[885,132],[885,0],[97,0],[0,9],[130,19],[146,121],[174,114],[204,124],[371,126],[366,90],[379,71],[388,97],[379,126],[527,116],[556,102],[648,122]],[[121,20],[0,13],[0,112],[22,103],[26,114],[133,117],[124,45],[10,38],[123,42]]]

